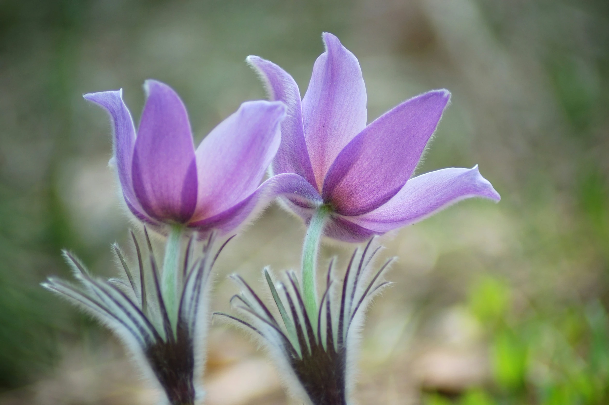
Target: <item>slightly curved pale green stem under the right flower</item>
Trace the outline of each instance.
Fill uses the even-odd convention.
[[[328,219],[329,209],[322,205],[317,208],[311,217],[309,227],[306,231],[305,242],[303,243],[302,258],[302,289],[305,308],[309,318],[314,325],[317,325],[317,255],[319,245],[322,241],[323,228]]]

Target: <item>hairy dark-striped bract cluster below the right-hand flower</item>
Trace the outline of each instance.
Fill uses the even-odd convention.
[[[245,317],[222,312],[214,315],[239,322],[261,337],[278,366],[286,370],[282,374],[295,395],[314,405],[346,405],[354,382],[353,363],[365,308],[389,285],[382,275],[393,260],[388,259],[375,271],[370,263],[380,247],[370,253],[371,242],[363,251],[353,252],[342,283],[334,279],[334,260],[330,262],[317,313],[306,311],[294,272],[287,272],[282,283],[273,281],[264,269],[275,308],[267,306],[241,276],[233,275],[242,291],[231,303]]]

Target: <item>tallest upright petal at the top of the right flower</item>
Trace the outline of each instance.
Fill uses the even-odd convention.
[[[357,58],[331,33],[315,61],[302,102],[305,138],[317,188],[340,150],[366,126],[366,88]]]

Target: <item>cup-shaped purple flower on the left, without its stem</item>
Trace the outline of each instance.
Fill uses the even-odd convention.
[[[259,186],[280,145],[281,102],[245,102],[195,150],[186,108],[169,86],[144,84],[146,105],[133,125],[122,90],[85,94],[110,113],[113,161],[129,210],[150,225],[181,224],[222,233],[238,227],[276,195],[314,190],[295,174]],[[308,191],[307,191],[308,190]]]

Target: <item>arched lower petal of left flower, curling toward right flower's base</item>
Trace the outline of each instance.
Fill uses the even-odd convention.
[[[219,230],[228,233],[246,224],[278,195],[289,195],[302,202],[321,203],[319,193],[305,178],[294,173],[282,173],[269,178],[255,192],[241,202],[213,217],[188,224],[191,228],[205,232]]]

